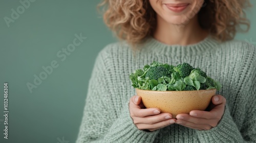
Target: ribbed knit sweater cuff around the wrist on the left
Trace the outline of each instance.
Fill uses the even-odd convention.
[[[139,130],[130,116],[129,103],[125,104],[122,114],[113,123],[105,136],[106,142],[153,142],[159,130],[146,132]]]

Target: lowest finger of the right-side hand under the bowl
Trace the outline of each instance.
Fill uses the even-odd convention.
[[[207,124],[195,124],[180,119],[176,120],[176,124],[197,130],[210,130],[212,128],[210,125]]]

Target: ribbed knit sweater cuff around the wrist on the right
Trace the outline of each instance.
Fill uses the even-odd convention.
[[[243,137],[236,123],[233,122],[227,105],[220,123],[210,130],[197,130],[197,135],[200,142],[243,142]]]

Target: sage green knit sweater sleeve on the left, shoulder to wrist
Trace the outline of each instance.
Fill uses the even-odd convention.
[[[111,79],[112,59],[108,55],[101,51],[96,58],[76,143],[153,142],[159,131],[139,130],[130,116],[129,101],[124,105],[115,102],[114,98],[119,96],[111,87],[115,81]],[[116,110],[116,107],[121,109]]]

